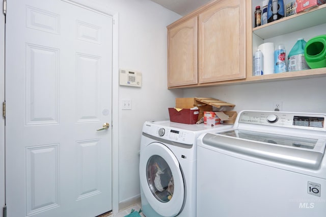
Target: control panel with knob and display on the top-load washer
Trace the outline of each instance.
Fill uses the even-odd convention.
[[[326,131],[325,114],[243,111],[238,123]]]

